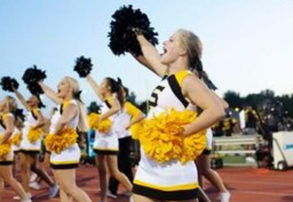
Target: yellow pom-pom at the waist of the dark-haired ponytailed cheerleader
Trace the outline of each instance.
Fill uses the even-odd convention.
[[[112,122],[110,119],[104,119],[103,121],[98,123],[99,121],[99,114],[90,113],[88,116],[88,125],[90,128],[98,130],[100,133],[108,133],[110,131]]]

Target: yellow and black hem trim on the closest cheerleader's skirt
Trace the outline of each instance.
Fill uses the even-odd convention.
[[[132,192],[157,200],[184,201],[198,198],[199,188],[197,183],[163,187],[135,180]]]

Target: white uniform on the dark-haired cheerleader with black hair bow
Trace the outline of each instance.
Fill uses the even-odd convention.
[[[111,98],[110,98],[111,99]],[[101,114],[106,113],[111,108],[111,104],[108,100],[102,103]],[[118,116],[114,114],[109,117],[112,122],[110,131],[108,133],[101,133],[98,130],[95,131],[94,152],[102,155],[117,155],[119,151],[117,134],[114,132],[115,121]]]

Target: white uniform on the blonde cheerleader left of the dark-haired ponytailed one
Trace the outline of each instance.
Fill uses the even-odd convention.
[[[75,100],[71,100],[66,103],[74,104],[77,106],[77,102]],[[55,112],[51,119],[50,125],[50,134],[55,132],[56,125],[60,120],[63,109],[66,106],[61,104],[58,106],[58,111]],[[79,112],[78,114],[68,123],[67,126],[71,126],[76,129],[79,122]],[[81,158],[81,151],[77,143],[72,144],[70,147],[64,149],[60,154],[56,154],[54,151],[51,152],[50,164],[53,169],[70,169],[78,167],[79,161]]]

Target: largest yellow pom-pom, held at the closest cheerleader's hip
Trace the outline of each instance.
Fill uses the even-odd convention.
[[[131,132],[138,137],[146,155],[158,162],[177,159],[182,164],[194,161],[207,145],[206,130],[184,136],[184,126],[197,117],[194,111],[171,109],[144,120]]]

